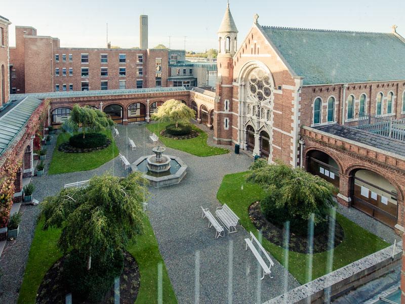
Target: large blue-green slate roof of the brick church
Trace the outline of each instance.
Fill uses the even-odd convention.
[[[405,43],[393,33],[261,29],[304,85],[405,80]]]

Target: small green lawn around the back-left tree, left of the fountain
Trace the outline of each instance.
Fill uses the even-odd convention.
[[[105,149],[89,153],[64,153],[58,150],[58,146],[69,140],[69,133],[58,135],[56,147],[49,166],[48,174],[58,174],[76,171],[86,171],[96,169],[118,156],[118,148],[112,137],[110,130],[105,130],[105,135],[111,139],[112,143]]]

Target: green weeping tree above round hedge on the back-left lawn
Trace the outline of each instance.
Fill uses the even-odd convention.
[[[73,106],[69,119],[64,122],[64,128],[76,132],[82,128],[83,138],[87,131],[100,132],[112,125],[113,121],[108,118],[106,113],[88,106],[81,107],[78,104]]]

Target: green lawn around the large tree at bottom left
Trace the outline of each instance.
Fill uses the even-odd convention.
[[[155,235],[149,219],[145,217],[145,233],[138,236],[127,250],[138,262],[141,283],[135,304],[157,302],[157,264],[163,263],[163,302],[177,303],[176,295],[160,256]],[[39,220],[35,228],[34,239],[28,255],[27,267],[20,289],[18,304],[35,303],[36,292],[48,269],[60,258],[57,248],[60,230],[43,231],[44,220]]]

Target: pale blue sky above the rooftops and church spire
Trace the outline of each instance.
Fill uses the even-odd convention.
[[[231,0],[231,12],[244,39],[260,15],[262,25],[360,31],[391,31],[392,24],[405,35],[405,1],[265,1]],[[105,47],[108,40],[123,48],[139,46],[139,15],[149,15],[149,47],[158,43],[173,49],[205,50],[217,47],[217,30],[225,0],[2,0],[0,15],[10,19],[10,46],[15,25],[33,26],[39,35],[58,37],[62,47]]]

